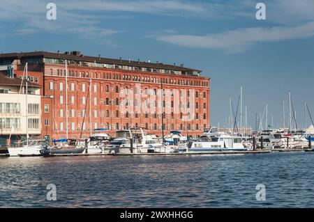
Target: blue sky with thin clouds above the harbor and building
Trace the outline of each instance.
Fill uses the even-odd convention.
[[[50,2],[57,19],[46,18]],[[259,2],[265,20],[255,17]],[[0,24],[0,53],[81,51],[200,69],[211,78],[211,125],[225,126],[241,86],[253,128],[266,104],[269,124],[273,116],[281,126],[289,91],[298,127],[304,102],[314,117],[313,0],[0,0]]]

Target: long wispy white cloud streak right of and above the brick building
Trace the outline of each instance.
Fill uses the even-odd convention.
[[[227,53],[239,53],[260,42],[277,42],[313,36],[314,22],[308,22],[300,26],[246,28],[209,35],[158,35],[156,40],[183,47],[221,49]]]

